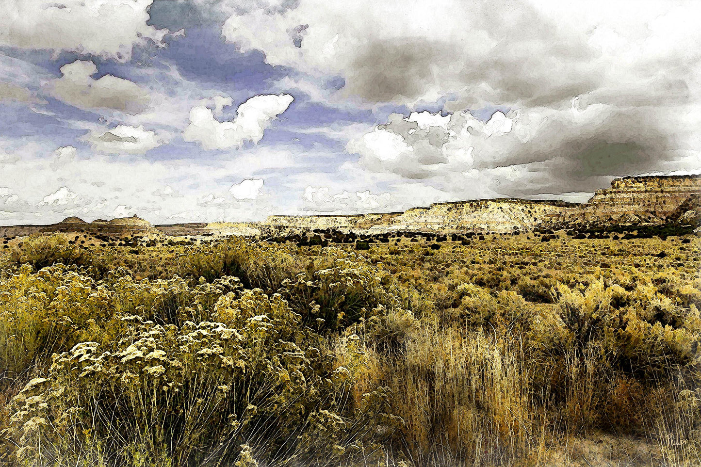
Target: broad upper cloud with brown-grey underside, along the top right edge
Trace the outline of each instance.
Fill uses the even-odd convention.
[[[241,50],[261,50],[271,65],[341,75],[347,93],[372,102],[459,93],[461,109],[480,102],[558,102],[620,82],[618,77],[628,76],[626,84],[648,78],[649,68],[635,67],[639,61],[676,55],[689,63],[685,50],[697,50],[700,34],[690,32],[697,5],[606,6],[597,11],[567,4],[557,8],[555,19],[555,8],[528,1],[390,0],[368,6],[300,0],[278,10],[241,8],[226,20],[222,34]],[[633,19],[618,24],[625,21],[621,17]],[[645,22],[651,27],[639,27]],[[606,38],[617,32],[623,32],[618,43]],[[665,35],[684,45],[670,46],[673,41],[659,39]],[[690,72],[674,70],[686,79]],[[618,76],[611,79],[612,74]]]

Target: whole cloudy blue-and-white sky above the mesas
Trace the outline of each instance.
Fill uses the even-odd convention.
[[[701,171],[699,1],[4,0],[0,224],[587,201]]]

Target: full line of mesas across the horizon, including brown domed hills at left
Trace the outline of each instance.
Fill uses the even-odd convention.
[[[304,231],[334,230],[373,235],[393,231],[456,234],[461,232],[610,229],[612,227],[691,226],[701,220],[701,176],[623,177],[599,189],[584,204],[559,200],[496,198],[434,203],[404,212],[358,215],[271,215],[265,222],[212,222],[152,226],[139,217],[85,222],[68,217],[47,226],[0,227],[4,237],[81,231],[125,237],[288,236]],[[686,227],[685,227],[686,228]]]

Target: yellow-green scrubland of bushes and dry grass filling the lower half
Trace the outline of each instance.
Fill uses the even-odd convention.
[[[701,465],[693,236],[0,250],[7,466]]]

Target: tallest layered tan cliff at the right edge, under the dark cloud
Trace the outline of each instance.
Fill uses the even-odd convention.
[[[611,188],[598,190],[579,212],[564,212],[560,219],[566,224],[661,225],[685,215],[694,217],[686,212],[693,210],[693,198],[700,195],[697,175],[618,178]]]

